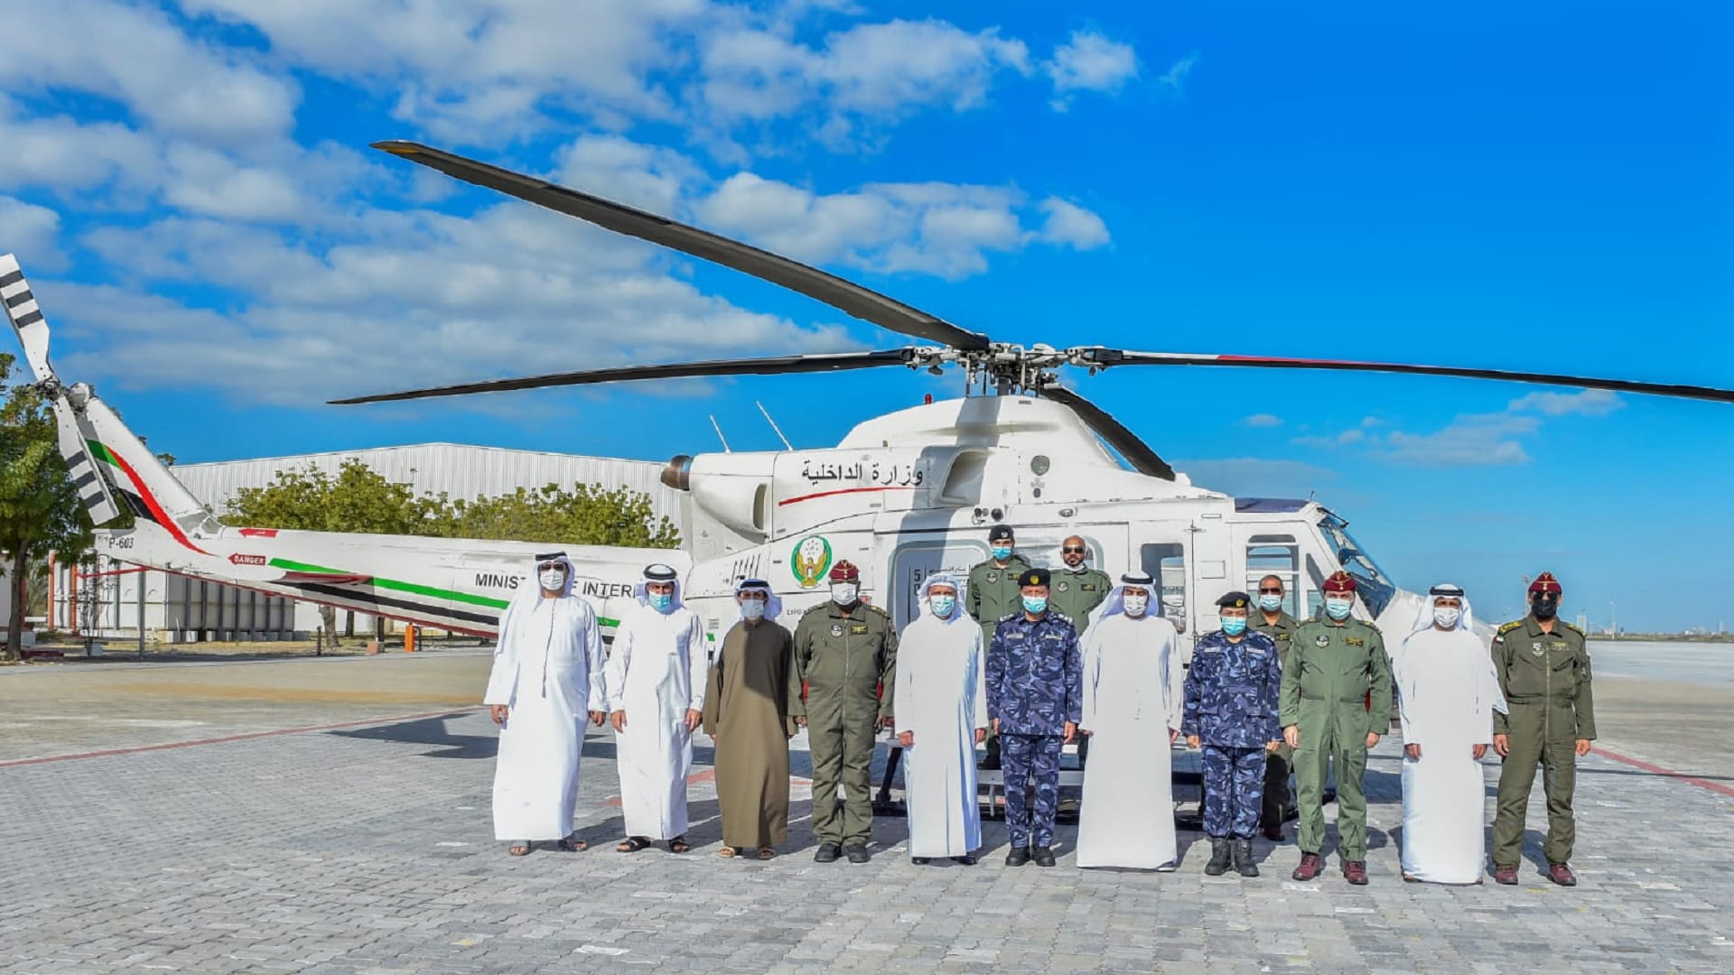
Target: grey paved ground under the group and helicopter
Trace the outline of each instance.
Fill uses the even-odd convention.
[[[302,670],[260,670],[272,666]],[[876,822],[872,864],[817,866],[801,789],[789,855],[725,862],[702,779],[694,854],[619,855],[612,744],[595,734],[577,824],[593,848],[510,859],[487,822],[489,722],[475,711],[378,720],[451,708],[453,682],[479,666],[486,659],[430,654],[137,668],[128,685],[87,685],[81,697],[80,682],[123,671],[0,673],[12,722],[0,737],[10,760],[0,760],[10,831],[0,970],[1734,970],[1724,876],[1734,795],[1711,774],[1684,781],[1588,758],[1576,890],[1547,885],[1533,864],[1517,888],[1405,885],[1387,743],[1368,774],[1373,885],[1349,888],[1333,873],[1288,881],[1292,841],[1259,843],[1271,869],[1254,881],[1205,878],[1198,847],[1176,874],[1079,871],[1068,828],[1059,867],[1011,871],[999,824],[985,829],[981,866],[914,867],[898,819]],[[59,711],[43,711],[49,703]],[[161,720],[205,723],[111,723],[153,720],[139,717],[142,703]],[[78,749],[43,748],[55,722],[31,717],[42,713],[90,718],[59,722],[81,725],[83,746],[154,748],[66,756]],[[276,734],[336,722],[369,723]],[[255,737],[175,744],[225,736]],[[701,770],[707,760],[701,748]],[[1538,841],[1531,833],[1531,859]]]

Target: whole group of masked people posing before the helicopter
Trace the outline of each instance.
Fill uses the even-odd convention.
[[[1323,871],[1325,786],[1335,779],[1337,854],[1344,880],[1368,883],[1366,751],[1391,725],[1392,684],[1403,727],[1403,878],[1479,883],[1479,762],[1502,758],[1493,873],[1517,883],[1524,812],[1543,767],[1547,874],[1573,885],[1573,769],[1595,737],[1583,633],[1557,618],[1559,581],[1531,585],[1531,612],[1507,623],[1491,654],[1474,631],[1467,595],[1429,592],[1392,652],[1353,616],[1356,583],[1323,585],[1311,619],[1283,611],[1278,576],[1259,592],[1217,600],[1219,628],[1196,640],[1191,666],[1162,616],[1162,588],[1141,573],[1118,583],[1087,562],[1080,538],[1063,566],[1032,567],[1007,526],[968,581],[919,583],[919,609],[896,631],[862,599],[860,571],[838,562],[831,599],[792,628],[763,579],[735,585],[739,621],[706,659],[699,618],[680,579],[649,566],[638,605],[603,654],[595,612],[572,597],[572,566],[538,557],[529,586],[501,618],[486,704],[499,723],[496,838],[513,855],[534,841],[562,850],[572,834],[577,753],[586,720],[612,723],[626,838],[621,852],[668,843],[690,850],[687,782],[692,732],[714,739],[720,855],[770,859],[787,841],[789,739],[806,729],[813,763],[815,860],[869,860],[869,769],[881,729],[905,756],[909,855],[975,864],[981,847],[978,765],[1006,784],[1007,866],[1054,864],[1059,756],[1087,756],[1079,819],[1080,867],[1172,871],[1172,744],[1202,751],[1205,873],[1257,876],[1252,838],[1283,838],[1295,779],[1300,862]],[[1061,609],[1065,607],[1065,609]],[[985,762],[976,746],[988,746]],[[843,793],[841,802],[838,793]]]

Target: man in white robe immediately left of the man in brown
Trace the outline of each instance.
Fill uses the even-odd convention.
[[[680,602],[680,581],[669,566],[645,567],[628,611],[614,630],[605,684],[614,723],[614,755],[621,772],[621,812],[635,854],[668,840],[685,854],[687,772],[692,769],[692,729],[704,718],[704,626]]]

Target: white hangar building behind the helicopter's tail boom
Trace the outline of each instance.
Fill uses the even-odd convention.
[[[243,488],[264,488],[279,470],[324,470],[336,475],[343,461],[355,458],[387,481],[414,488],[418,494],[446,493],[451,498],[510,494],[518,488],[546,484],[569,488],[600,484],[603,489],[629,488],[650,496],[655,517],[668,517],[685,533],[680,491],[662,486],[662,463],[576,456],[465,444],[411,444],[260,460],[189,463],[173,467],[175,477],[189,491],[222,515],[229,500]],[[189,579],[137,569],[99,557],[95,571],[78,573],[55,566],[50,583],[49,626],[62,633],[80,631],[104,640],[135,640],[139,616],[144,614],[151,642],[199,640],[291,640],[307,638],[321,626],[319,607],[220,583]],[[140,609],[140,585],[144,599]],[[375,619],[338,611],[338,631],[355,637],[373,633]],[[395,630],[395,623],[392,625]],[[116,647],[120,649],[120,647]]]

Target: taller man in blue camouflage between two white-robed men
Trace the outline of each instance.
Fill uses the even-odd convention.
[[[1023,609],[994,626],[987,652],[987,713],[1001,736],[1006,772],[1006,866],[1054,866],[1059,749],[1084,715],[1084,661],[1072,621],[1047,611],[1047,569],[1018,574]],[[1027,789],[1035,791],[1035,810]]]

